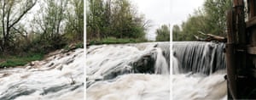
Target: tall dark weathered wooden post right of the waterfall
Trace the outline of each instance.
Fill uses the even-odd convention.
[[[241,98],[241,88],[246,85],[247,35],[243,0],[233,0],[233,8],[228,14],[228,40],[226,63],[229,98]]]

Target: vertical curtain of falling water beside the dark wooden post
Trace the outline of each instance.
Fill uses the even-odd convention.
[[[173,42],[173,58],[177,58],[181,73],[210,75],[225,69],[224,43],[216,42]],[[176,69],[177,70],[177,69]]]

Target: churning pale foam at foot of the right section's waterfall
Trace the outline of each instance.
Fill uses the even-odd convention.
[[[227,99],[227,83],[224,74],[209,76],[172,76],[173,100],[220,100]]]

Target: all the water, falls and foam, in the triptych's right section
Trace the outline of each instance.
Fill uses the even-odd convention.
[[[172,98],[227,99],[224,43],[173,42]]]

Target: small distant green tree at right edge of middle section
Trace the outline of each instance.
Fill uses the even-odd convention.
[[[156,30],[156,35],[156,41],[170,42],[170,29],[167,25],[161,25],[161,27]]]

